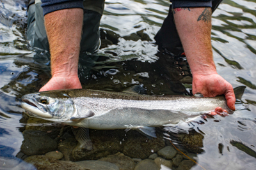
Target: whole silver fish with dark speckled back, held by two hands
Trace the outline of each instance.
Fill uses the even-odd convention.
[[[237,87],[236,95],[241,97],[244,88]],[[124,92],[51,90],[22,96],[21,106],[45,120],[90,129],[137,129],[154,138],[154,127],[177,124],[217,107],[233,112],[224,96],[150,96],[138,94],[141,91],[139,85]]]

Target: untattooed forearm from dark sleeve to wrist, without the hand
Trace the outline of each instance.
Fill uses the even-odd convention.
[[[52,76],[77,76],[83,10],[70,8],[45,15]]]

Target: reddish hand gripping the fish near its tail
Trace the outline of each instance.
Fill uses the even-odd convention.
[[[193,75],[192,92],[199,92],[205,97],[225,95],[228,108],[236,110],[236,97],[232,85],[217,73]]]

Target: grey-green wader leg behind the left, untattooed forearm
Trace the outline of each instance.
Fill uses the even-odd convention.
[[[50,57],[41,4],[40,0],[32,0],[28,3],[27,38],[31,46],[36,49],[34,59],[37,62],[49,61]],[[88,52],[96,52],[100,46],[99,25],[104,10],[104,0],[84,0],[83,4],[83,34],[80,45],[79,67],[82,67],[83,76],[87,76],[91,67],[94,66],[93,62],[98,59],[96,55],[88,55]],[[42,52],[44,52],[44,55],[40,55]]]

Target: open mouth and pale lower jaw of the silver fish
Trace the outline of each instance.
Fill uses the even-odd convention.
[[[30,99],[26,99],[25,97],[22,97],[22,103],[20,106],[24,108],[24,110],[28,111],[29,114],[35,115],[36,117],[40,118],[52,118],[52,115],[48,113],[47,111],[42,111],[36,106],[33,101]]]

